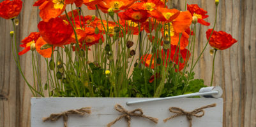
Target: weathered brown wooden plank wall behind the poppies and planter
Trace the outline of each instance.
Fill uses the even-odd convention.
[[[0,0],[3,1],[3,0]],[[24,0],[22,12],[18,17],[18,41],[37,31],[40,21],[38,8],[33,7],[35,0]],[[169,0],[170,1],[170,0]],[[185,0],[172,0],[170,6],[184,10]],[[208,11],[209,27],[197,25],[199,36],[196,40],[195,57],[206,44],[205,32],[213,27],[215,15],[214,0],[189,0],[189,4],[199,4]],[[218,23],[216,30],[224,30],[238,40],[231,48],[218,51],[214,84],[223,88],[223,126],[256,126],[256,1],[255,0],[220,0]],[[84,7],[83,7],[84,8]],[[95,11],[84,13],[94,15]],[[10,31],[11,20],[0,18],[0,93],[7,100],[0,99],[0,127],[30,126],[30,97],[32,94],[19,74],[11,56]],[[21,50],[21,49],[20,49]],[[211,80],[211,63],[207,47],[200,62],[195,67],[196,77],[203,78],[209,85]],[[20,57],[22,69],[26,77],[31,76],[31,53]],[[45,61],[41,59],[41,70],[45,69]],[[44,75],[42,74],[42,77]],[[29,79],[32,81],[32,79]]]

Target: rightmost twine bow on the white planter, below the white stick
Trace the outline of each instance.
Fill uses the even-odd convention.
[[[206,105],[206,106],[200,107],[199,109],[195,109],[192,112],[186,112],[186,111],[184,111],[183,109],[181,109],[179,107],[170,107],[169,108],[170,112],[176,113],[176,114],[174,116],[167,117],[167,119],[164,119],[163,122],[167,122],[169,119],[172,119],[172,118],[177,117],[177,116],[186,115],[186,118],[190,122],[190,127],[192,127],[192,116],[202,117],[202,116],[204,116],[204,110],[203,109],[206,109],[206,108],[209,108],[209,107],[215,107],[215,106],[216,106],[216,104]],[[198,114],[200,112],[202,114]]]

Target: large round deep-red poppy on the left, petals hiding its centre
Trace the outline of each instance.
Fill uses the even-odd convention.
[[[38,23],[41,37],[54,46],[63,46],[70,39],[73,28],[70,23],[61,18],[51,18],[49,22],[41,21]]]

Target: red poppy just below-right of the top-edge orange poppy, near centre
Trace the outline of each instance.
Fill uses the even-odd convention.
[[[124,12],[118,13],[122,20],[132,20],[132,22],[145,22],[149,17],[146,10],[135,10],[130,8]]]

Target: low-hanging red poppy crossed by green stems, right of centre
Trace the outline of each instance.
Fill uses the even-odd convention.
[[[190,51],[188,51],[187,49],[183,49],[183,50],[180,49],[180,52],[179,52],[179,48],[177,48],[177,46],[171,45],[170,49],[167,50],[167,57],[165,57],[165,54],[163,53],[163,50],[162,50],[162,58],[164,58],[163,62],[167,62],[165,58],[169,58],[169,62],[172,61],[174,63],[174,67],[175,65],[179,65],[179,71],[181,71],[184,68],[184,65],[188,62],[190,58]],[[181,61],[181,59],[183,60]],[[176,69],[176,72],[177,72],[177,69]]]

